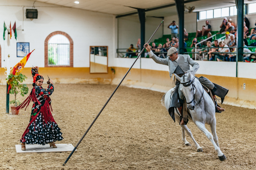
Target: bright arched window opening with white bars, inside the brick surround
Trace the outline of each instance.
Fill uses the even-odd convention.
[[[48,41],[48,65],[70,65],[70,42],[57,34]]]

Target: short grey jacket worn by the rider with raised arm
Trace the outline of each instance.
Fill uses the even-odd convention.
[[[151,52],[149,52],[149,54],[150,53]],[[194,73],[198,70],[199,64],[197,62],[195,62],[192,58],[190,58],[190,56],[188,54],[183,54],[183,55],[178,54],[178,55],[179,55],[179,62],[178,63],[176,61],[170,60],[169,57],[160,58],[160,57],[156,56],[155,54],[153,56],[151,56],[151,55],[150,56],[156,63],[169,66],[170,78],[172,78],[172,74],[174,73],[178,64],[184,72],[190,70],[189,65],[192,65],[191,71],[193,71]]]

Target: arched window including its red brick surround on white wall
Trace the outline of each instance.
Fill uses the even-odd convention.
[[[45,67],[73,67],[73,40],[62,31],[49,34],[44,41]]]

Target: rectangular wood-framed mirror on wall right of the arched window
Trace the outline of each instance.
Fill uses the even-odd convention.
[[[108,46],[90,46],[90,73],[108,73]]]

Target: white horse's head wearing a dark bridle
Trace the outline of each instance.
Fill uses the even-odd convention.
[[[200,82],[190,71],[186,72],[182,77],[174,75],[180,81],[180,90],[186,98],[188,109],[194,110],[197,105],[195,101],[196,87],[199,87],[197,83],[200,84]]]

